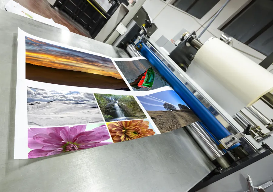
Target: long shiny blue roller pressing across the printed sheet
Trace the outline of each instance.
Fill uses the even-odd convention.
[[[140,52],[158,70],[160,75],[172,86],[175,92],[184,100],[196,116],[204,123],[207,129],[221,140],[231,133],[209,112],[209,110],[190,92],[189,89],[164,65],[164,63],[152,52],[148,46],[141,42]],[[237,143],[230,149],[238,147]]]

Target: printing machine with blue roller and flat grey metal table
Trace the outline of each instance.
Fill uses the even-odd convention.
[[[202,46],[195,32],[183,34],[178,49],[167,55],[149,38],[147,29],[152,23],[148,19],[144,25],[131,20],[113,46],[5,11],[0,11],[0,24],[0,43],[5,47],[0,52],[4,66],[0,71],[0,191],[273,191],[272,150],[251,136],[255,125],[240,113],[235,121],[184,72]],[[14,160],[18,27],[114,58],[144,56],[200,122],[65,156]],[[178,59],[187,65],[178,65]],[[271,96],[268,93],[261,99],[272,107]],[[255,108],[249,110],[271,130],[270,120]]]

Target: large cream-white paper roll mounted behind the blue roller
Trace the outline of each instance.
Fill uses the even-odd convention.
[[[245,106],[273,90],[273,74],[220,39],[207,41],[193,62],[221,83]]]

